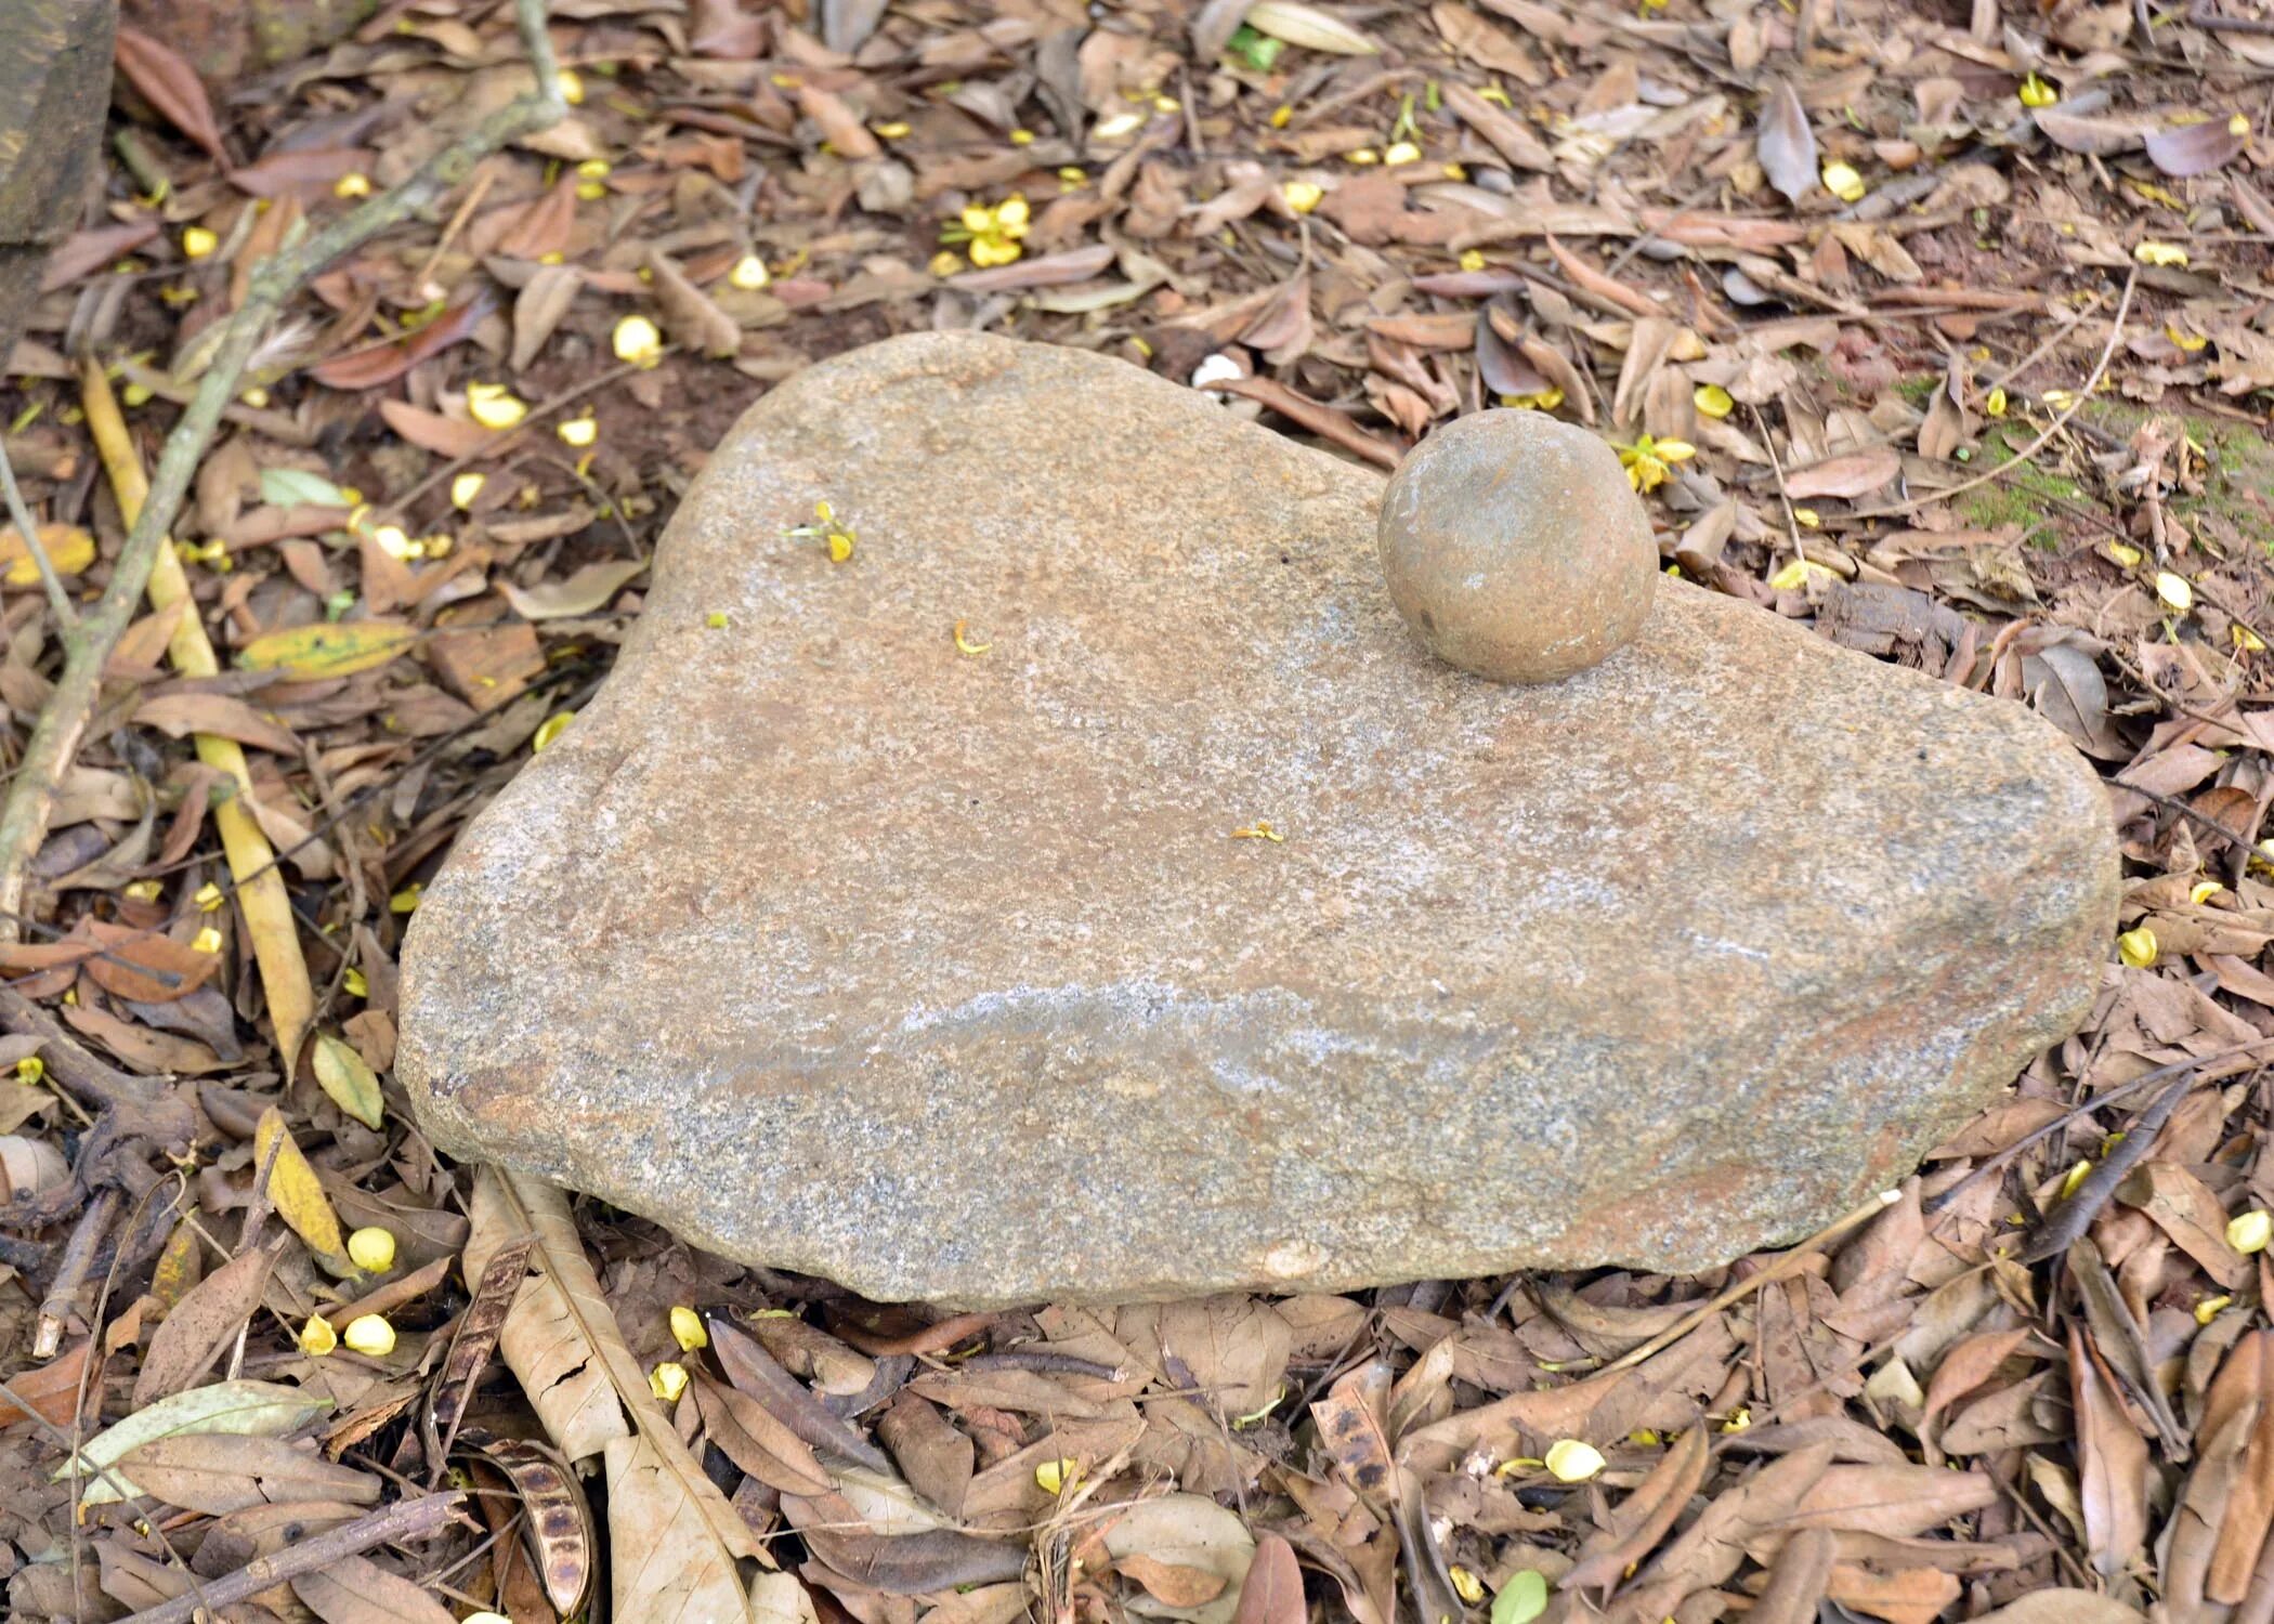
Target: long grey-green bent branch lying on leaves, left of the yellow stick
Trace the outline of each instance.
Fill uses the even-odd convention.
[[[553,57],[553,41],[546,36],[543,0],[514,0],[514,18],[521,25],[521,43],[530,55],[530,66],[537,71],[534,93],[484,118],[400,187],[371,198],[355,214],[314,237],[282,248],[252,271],[246,303],[230,318],[205,378],[198,380],[198,393],[191,396],[180,423],[166,437],[166,450],[150,478],[150,494],[118,562],[111,566],[111,582],[102,589],[102,600],[86,621],[64,632],[64,671],[32,728],[7,803],[0,805],[0,942],[16,939],[16,923],[7,914],[23,912],[25,869],[48,835],[57,789],[86,735],[102,666],[141,605],[150,569],[166,544],[166,530],[182,509],[182,498],[189,494],[198,462],[221,425],[223,409],[236,398],[236,382],[268,330],[268,321],[332,259],[352,252],[443,198],[473,173],[480,159],[505,143],[546,130],[566,116],[559,64]]]

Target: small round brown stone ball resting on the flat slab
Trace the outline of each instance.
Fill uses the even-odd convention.
[[[1546,412],[1474,412],[1383,494],[1389,600],[1430,653],[1494,682],[1553,682],[1635,641],[1658,541],[1619,455]]]

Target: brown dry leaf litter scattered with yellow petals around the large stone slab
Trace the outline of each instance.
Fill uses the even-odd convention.
[[[528,84],[498,7],[241,73],[175,48],[214,16],[130,7],[105,196],[0,380],[73,596],[125,535],[105,437],[152,459],[250,266]],[[2258,0],[573,0],[553,39],[573,116],[262,346],[0,955],[11,1617],[2274,1617]],[[1596,428],[1669,569],[2101,764],[2090,1026],[1885,1208],[1696,1278],[939,1317],[443,1162],[389,1080],[421,880],[732,416],[919,328],[1383,466],[1489,403]],[[5,546],[20,741],[57,625]]]

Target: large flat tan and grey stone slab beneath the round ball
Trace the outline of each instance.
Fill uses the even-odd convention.
[[[796,375],[428,889],[418,1119],[878,1299],[1696,1269],[2081,1019],[2117,860],[2049,726],[1680,582],[1478,680],[1380,491],[1076,350]]]

